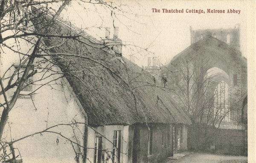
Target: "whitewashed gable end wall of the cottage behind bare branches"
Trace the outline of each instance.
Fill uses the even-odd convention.
[[[20,40],[21,45],[23,44]],[[22,46],[23,51],[28,50],[29,45]],[[11,57],[10,57],[11,56]],[[11,66],[19,64],[19,56],[17,53],[9,51],[3,47],[1,53],[2,65],[1,76]],[[15,67],[11,67],[6,76],[11,75],[15,70]],[[56,70],[58,68],[56,67]],[[49,76],[46,73],[45,76]],[[33,81],[41,79],[42,73],[35,74]],[[65,79],[57,79],[59,75],[51,76],[44,81],[35,82],[32,85],[32,91],[39,88],[42,84],[49,82],[44,85],[32,96],[24,96],[17,99],[15,106],[9,113],[8,124],[6,124],[3,138],[7,141],[16,140],[26,135],[33,134],[35,132],[43,131],[50,126],[57,124],[69,124],[74,122],[85,122],[85,114],[83,113],[82,107],[77,100],[76,96],[72,92],[72,88]],[[55,80],[57,79],[57,80]],[[53,82],[50,82],[55,80]],[[4,85],[7,84],[8,80],[3,81]],[[13,90],[7,92],[8,98],[11,98]],[[0,99],[1,102],[3,99]],[[3,108],[0,108],[3,110]],[[70,126],[62,125],[51,129],[56,133],[70,140],[83,145],[83,133],[84,125],[80,124],[75,129]],[[14,144],[20,152],[20,156],[25,163],[75,163],[76,152],[83,152],[81,146],[74,144],[74,149],[67,139],[62,138],[61,135],[54,133],[42,133],[41,135],[34,135],[18,141]],[[75,136],[75,137],[74,137]],[[17,157],[20,159],[20,157]],[[81,155],[79,156],[81,160]]]

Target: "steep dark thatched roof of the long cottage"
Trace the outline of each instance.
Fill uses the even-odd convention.
[[[44,32],[47,17],[39,17],[35,28]],[[41,29],[41,30],[40,30]],[[74,34],[70,27],[56,22],[51,33]],[[191,124],[190,119],[175,101],[170,90],[163,88],[148,72],[122,56],[108,53],[90,38],[78,40],[49,38],[47,46],[61,45],[51,53],[69,53],[75,56],[56,56],[79,98],[91,126],[128,125],[135,123]],[[81,55],[83,57],[76,57]]]

